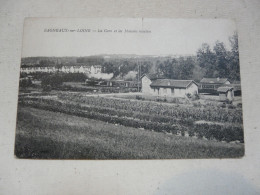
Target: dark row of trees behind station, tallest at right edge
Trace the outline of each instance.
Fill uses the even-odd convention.
[[[227,77],[240,80],[238,37],[234,33],[229,38],[231,50],[223,42],[210,45],[203,43],[196,56],[157,59],[110,61],[103,64],[103,71],[114,73],[114,77],[124,78],[129,71],[158,74],[169,79],[192,79],[200,81],[203,77]],[[138,74],[137,74],[138,75]],[[137,78],[136,78],[137,79]]]

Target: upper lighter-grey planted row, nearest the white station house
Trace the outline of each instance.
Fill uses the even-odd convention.
[[[221,108],[195,108],[165,105],[155,102],[130,101],[123,99],[112,99],[102,97],[81,96],[79,94],[60,95],[60,99],[71,102],[84,103],[87,105],[114,108],[116,110],[127,110],[147,114],[157,114],[174,118],[192,118],[193,120],[207,120],[218,122],[242,123],[241,110],[228,110]]]

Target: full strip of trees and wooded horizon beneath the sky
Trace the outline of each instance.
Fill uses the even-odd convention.
[[[239,52],[237,33],[229,38],[230,50],[223,42],[217,41],[213,48],[204,43],[196,56],[135,56],[110,55],[89,57],[35,57],[23,58],[26,66],[96,65],[102,66],[102,72],[113,73],[114,78],[127,79],[130,71],[156,73],[169,79],[190,79],[200,81],[203,77],[227,77],[231,81],[240,80]],[[38,64],[37,64],[38,63]],[[135,78],[137,79],[137,78]]]

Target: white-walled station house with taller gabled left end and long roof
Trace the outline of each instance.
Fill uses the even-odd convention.
[[[141,79],[144,95],[185,97],[198,94],[198,84],[193,80],[158,79],[149,75],[143,75]]]

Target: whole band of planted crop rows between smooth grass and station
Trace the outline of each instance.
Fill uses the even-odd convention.
[[[155,102],[130,101],[80,95],[59,100],[24,98],[20,105],[62,112],[128,127],[198,138],[243,143],[242,111],[237,109],[169,106]],[[195,123],[209,121],[210,123]],[[215,122],[215,123],[214,123]],[[211,124],[213,123],[213,124]]]

